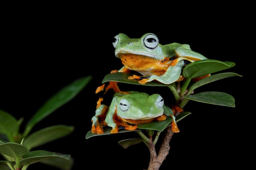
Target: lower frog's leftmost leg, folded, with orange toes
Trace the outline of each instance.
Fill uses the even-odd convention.
[[[103,125],[107,125],[105,122],[108,106],[101,104],[95,111],[95,115],[92,117],[92,133],[102,134],[104,133]]]

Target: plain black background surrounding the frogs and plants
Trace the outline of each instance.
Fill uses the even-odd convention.
[[[0,109],[16,119],[29,120],[49,97],[72,81],[92,75],[90,83],[70,102],[38,123],[33,131],[56,124],[75,126],[74,132],[62,139],[36,148],[70,154],[75,160],[73,170],[112,168],[146,169],[149,151],[144,144],[123,149],[121,139],[137,137],[136,133],[107,135],[85,139],[91,129],[98,94],[104,76],[121,68],[114,55],[112,40],[118,33],[140,38],[144,33],[155,33],[161,44],[179,42],[189,44],[193,51],[209,59],[235,62],[225,72],[243,77],[229,77],[200,87],[196,92],[222,91],[236,100],[236,107],[212,106],[189,102],[185,110],[192,114],[178,123],[180,133],[171,139],[169,155],[160,170],[171,168],[208,168],[244,165],[247,124],[243,121],[246,78],[243,47],[246,24],[235,10],[218,15],[204,13],[179,16],[145,10],[143,15],[129,15],[134,9],[111,7],[107,12],[89,12],[89,6],[58,7],[38,11],[24,10],[6,14],[2,27],[3,39],[0,59]],[[207,10],[206,10],[207,11]],[[181,12],[181,11],[180,11]],[[223,13],[220,13],[223,12]],[[125,15],[125,14],[128,15]],[[175,15],[174,15],[175,14]],[[139,19],[139,21],[138,21]],[[122,90],[138,90],[171,95],[168,88],[126,86]],[[112,93],[112,92],[109,92]],[[107,99],[106,99],[106,102]],[[168,99],[166,104],[168,104]],[[22,126],[22,127],[23,127]],[[128,137],[127,137],[128,136]],[[119,167],[118,165],[121,165]],[[206,167],[207,165],[207,167]],[[40,167],[38,167],[40,166]],[[30,168],[31,167],[31,168]],[[33,168],[34,167],[34,168]],[[51,169],[40,163],[29,169]],[[90,168],[90,169],[91,169]]]

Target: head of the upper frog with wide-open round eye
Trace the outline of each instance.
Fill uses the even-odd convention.
[[[164,58],[161,44],[153,33],[146,33],[141,38],[129,38],[123,33],[115,36],[113,46],[115,56],[120,58],[123,55],[146,56],[157,60]]]

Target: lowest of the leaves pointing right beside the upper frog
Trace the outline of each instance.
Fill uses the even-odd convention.
[[[207,91],[194,95],[186,95],[184,98],[207,104],[235,107],[234,97],[223,92]]]

